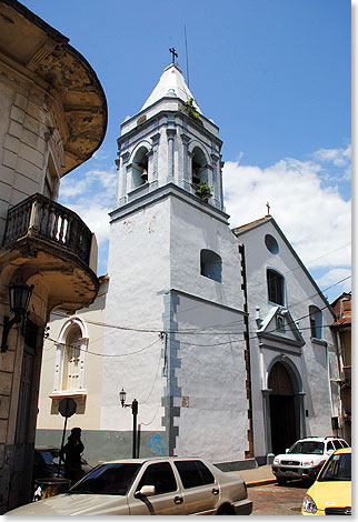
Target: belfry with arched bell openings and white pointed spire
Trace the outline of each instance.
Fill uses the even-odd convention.
[[[121,124],[116,207],[173,183],[223,211],[218,134],[171,63],[141,110]]]

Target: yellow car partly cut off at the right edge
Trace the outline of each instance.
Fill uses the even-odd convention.
[[[301,514],[351,515],[351,448],[330,455],[305,495]]]

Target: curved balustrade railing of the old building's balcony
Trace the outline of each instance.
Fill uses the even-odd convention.
[[[36,237],[60,245],[89,263],[92,232],[71,210],[34,194],[8,212],[2,247],[24,237]]]

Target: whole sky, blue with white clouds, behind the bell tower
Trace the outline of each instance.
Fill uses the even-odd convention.
[[[220,128],[232,227],[271,214],[321,289],[350,274],[348,0],[23,0],[92,66],[106,139],[62,181],[60,201],[99,241],[107,270],[120,123],[140,110],[175,47],[189,87]],[[188,80],[188,79],[187,79]],[[350,280],[325,291],[334,299]]]

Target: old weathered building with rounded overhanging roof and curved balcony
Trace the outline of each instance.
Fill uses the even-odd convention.
[[[43,331],[99,288],[96,238],[56,202],[107,128],[102,87],[69,39],[0,1],[0,512],[30,499]],[[32,290],[27,313],[9,289]],[[12,327],[12,328],[9,328]]]

